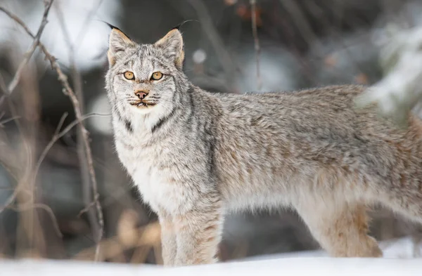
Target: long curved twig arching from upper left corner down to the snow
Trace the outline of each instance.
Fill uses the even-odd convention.
[[[1,11],[5,11],[4,8],[1,8]],[[60,65],[58,65],[56,58],[47,51],[44,44],[41,44],[39,39],[37,39],[37,36],[32,34],[30,29],[25,25],[25,22],[22,20],[18,20],[18,17],[16,15],[13,15],[13,13],[6,11],[6,15],[8,15],[11,19],[15,20],[19,25],[25,29],[25,32],[30,35],[34,39],[34,42],[37,42],[36,45],[39,46],[42,52],[44,52],[44,55],[46,55],[46,59],[49,60],[50,65],[53,70],[55,70],[58,74],[58,80],[63,86],[63,93],[70,98],[70,101],[72,102],[73,110],[75,112],[75,117],[77,119],[77,123],[79,124],[79,129],[81,132],[84,148],[86,150],[86,158],[87,158],[87,165],[89,168],[89,176],[91,178],[91,185],[92,185],[92,191],[94,194],[93,201],[96,202],[96,212],[98,216],[98,224],[100,226],[100,229],[98,231],[98,237],[97,237],[97,247],[96,251],[99,254],[100,251],[100,241],[103,238],[103,229],[104,229],[104,220],[103,220],[103,210],[101,209],[101,204],[99,202],[99,195],[98,195],[98,188],[96,183],[96,176],[94,171],[94,162],[92,159],[92,153],[91,153],[91,147],[89,145],[89,137],[88,137],[88,131],[85,129],[84,124],[82,124],[82,112],[79,105],[79,101],[77,100],[77,96],[75,95],[74,91],[70,87],[68,77],[63,73],[63,71],[60,68]],[[96,255],[96,259],[98,259],[98,254]]]

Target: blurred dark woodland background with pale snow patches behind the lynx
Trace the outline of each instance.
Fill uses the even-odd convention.
[[[153,43],[189,20],[181,26],[184,71],[209,91],[365,84],[374,89],[364,103],[378,101],[380,112],[398,122],[407,110],[421,109],[422,1],[49,2],[0,0],[1,258],[162,262],[157,218],[113,147],[104,88],[110,28],[103,21],[139,43]],[[28,54],[34,38],[16,22],[20,18],[35,35],[46,10],[41,43],[48,59],[39,47]],[[63,88],[64,75],[90,149],[87,132],[75,121],[75,101]],[[370,214],[377,239],[409,237],[418,244],[417,225],[381,208]],[[236,213],[226,217],[220,258],[316,249],[294,211]]]

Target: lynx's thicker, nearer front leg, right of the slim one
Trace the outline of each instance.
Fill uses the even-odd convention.
[[[175,265],[197,265],[217,262],[217,248],[222,236],[221,202],[200,204],[174,220],[177,229]]]

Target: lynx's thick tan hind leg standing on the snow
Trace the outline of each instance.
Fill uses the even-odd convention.
[[[359,204],[333,204],[324,197],[297,206],[321,247],[334,257],[381,257],[383,253],[368,235],[366,207]]]

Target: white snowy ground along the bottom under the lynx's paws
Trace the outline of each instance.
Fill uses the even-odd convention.
[[[422,275],[422,259],[411,258],[414,249],[409,239],[383,243],[381,247],[385,258],[328,258],[324,252],[315,251],[184,268],[75,261],[3,260],[0,261],[0,275]]]

